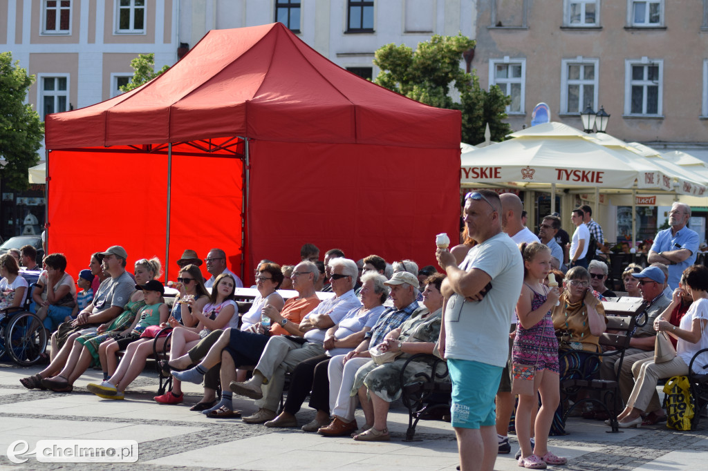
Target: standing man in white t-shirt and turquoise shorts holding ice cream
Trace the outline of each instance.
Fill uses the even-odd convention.
[[[447,359],[452,378],[452,426],[462,469],[491,470],[498,453],[494,398],[506,366],[509,325],[523,282],[521,253],[502,232],[501,219],[498,194],[469,192],[464,223],[478,244],[459,267],[449,250],[435,252],[447,273],[440,289],[445,309],[438,351]],[[482,296],[490,281],[492,288]]]

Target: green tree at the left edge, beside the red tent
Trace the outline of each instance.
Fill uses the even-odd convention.
[[[39,162],[44,137],[40,116],[25,103],[34,81],[19,61],[13,64],[10,52],[0,53],[0,157],[5,159],[0,178],[17,191],[28,188],[27,169]]]

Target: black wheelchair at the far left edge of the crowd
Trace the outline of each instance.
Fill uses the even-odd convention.
[[[28,286],[28,293],[34,286]],[[20,366],[31,366],[44,358],[49,339],[42,320],[30,313],[31,302],[30,295],[23,306],[0,310],[0,359],[7,354]]]

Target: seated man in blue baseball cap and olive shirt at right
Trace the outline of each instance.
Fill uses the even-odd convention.
[[[624,352],[624,361],[622,362],[622,371],[617,371],[617,360],[619,355],[605,356],[600,364],[600,378],[604,380],[615,380],[619,382],[619,393],[622,396],[622,401],[627,404],[629,395],[632,394],[634,388],[634,376],[632,374],[632,365],[636,361],[647,359],[654,354],[654,342],[656,340],[656,331],[654,330],[654,320],[663,313],[670,305],[671,301],[663,296],[664,277],[663,272],[658,267],[647,267],[639,273],[633,273],[632,277],[639,280],[639,290],[641,297],[644,298],[649,305],[646,307],[646,324],[642,327],[637,327],[629,340],[629,348]],[[610,405],[607,405],[610,407]],[[610,407],[612,409],[612,407]],[[658,395],[654,394],[651,398],[650,406],[647,410],[661,410]],[[651,414],[650,414],[651,415]],[[654,414],[656,416],[656,414]],[[654,421],[661,417],[647,417],[648,420]]]

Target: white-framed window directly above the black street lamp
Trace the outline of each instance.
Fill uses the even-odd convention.
[[[589,104],[598,109],[599,59],[561,61],[561,113],[579,114]]]

